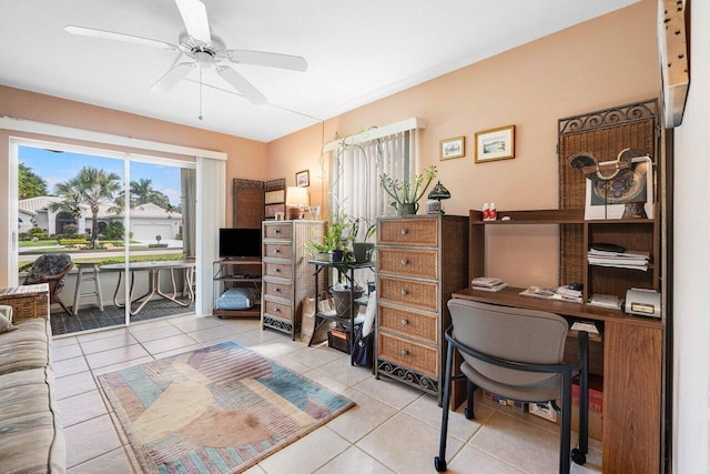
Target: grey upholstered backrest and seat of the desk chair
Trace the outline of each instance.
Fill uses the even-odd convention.
[[[559,364],[565,354],[567,321],[554,313],[476,301],[448,301],[454,337],[497,359],[528,364]],[[507,385],[530,385],[557,376],[500,367],[468,354],[464,360],[480,374]]]

